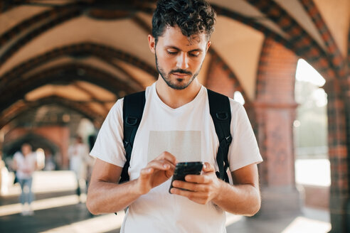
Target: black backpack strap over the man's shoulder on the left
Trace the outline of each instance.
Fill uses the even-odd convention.
[[[130,166],[130,159],[132,153],[132,146],[134,145],[134,138],[136,136],[139,123],[144,112],[144,104],[146,103],[145,92],[137,92],[129,94],[124,97],[123,104],[123,126],[124,126],[124,148],[126,152],[127,161],[124,164],[122,175],[120,175],[120,183],[129,180],[127,170]]]

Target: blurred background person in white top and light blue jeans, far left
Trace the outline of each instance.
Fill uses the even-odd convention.
[[[33,183],[33,173],[38,168],[36,153],[32,151],[31,145],[23,143],[21,151],[14,154],[14,170],[18,183],[21,185],[21,195],[19,197],[22,204],[21,215],[33,215],[31,202],[33,201],[33,193],[31,185]],[[26,205],[28,204],[28,206]]]

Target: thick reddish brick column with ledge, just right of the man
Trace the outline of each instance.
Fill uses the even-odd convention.
[[[255,133],[264,162],[259,165],[262,191],[260,215],[277,217],[300,212],[295,187],[293,121],[297,56],[267,38],[258,67]]]

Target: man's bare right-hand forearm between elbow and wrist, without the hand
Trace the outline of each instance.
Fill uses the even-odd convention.
[[[260,210],[260,191],[254,185],[230,185],[220,180],[218,195],[213,202],[235,215],[253,216]]]

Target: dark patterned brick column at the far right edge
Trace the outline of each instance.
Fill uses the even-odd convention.
[[[349,232],[349,145],[346,145],[346,105],[341,96],[339,80],[327,81],[324,88],[328,94],[331,232]]]

